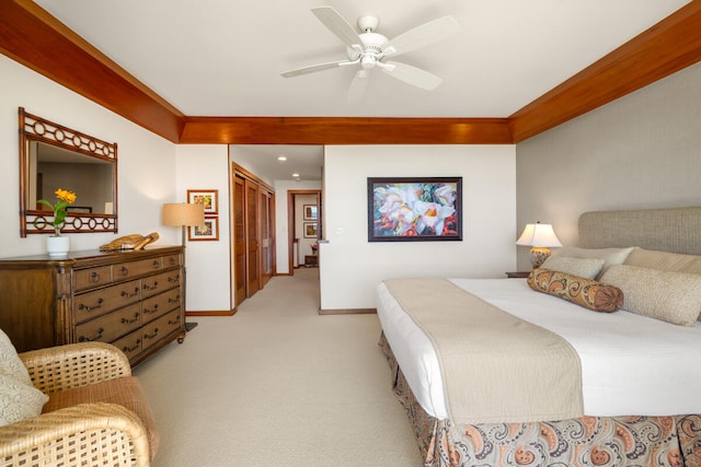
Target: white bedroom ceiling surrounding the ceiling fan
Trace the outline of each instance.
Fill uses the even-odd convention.
[[[185,115],[323,117],[508,117],[689,2],[35,1]],[[427,92],[372,70],[364,98],[349,104],[355,69],[281,78],[346,58],[345,46],[310,12],[322,4],[353,25],[378,15],[378,32],[390,39],[455,16],[458,36],[397,59],[444,82]]]

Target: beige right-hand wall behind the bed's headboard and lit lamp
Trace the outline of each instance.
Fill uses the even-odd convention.
[[[565,245],[585,211],[701,205],[701,63],[518,144],[516,192],[514,235],[541,221]]]

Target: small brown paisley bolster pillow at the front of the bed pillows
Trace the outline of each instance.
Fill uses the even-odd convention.
[[[623,304],[623,292],[591,279],[538,268],[528,276],[531,289],[601,313],[613,313]]]

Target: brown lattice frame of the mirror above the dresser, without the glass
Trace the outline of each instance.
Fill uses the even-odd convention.
[[[53,211],[27,209],[28,203],[28,148],[32,141],[59,147],[112,163],[113,213],[70,212],[66,217],[61,232],[93,233],[117,232],[117,143],[108,143],[62,125],[24,112],[20,107],[20,236],[27,234],[54,233],[49,225]]]

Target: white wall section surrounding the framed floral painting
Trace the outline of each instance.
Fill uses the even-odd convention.
[[[504,277],[516,266],[515,147],[326,147],[321,307],[375,308],[400,277]],[[462,177],[462,242],[368,242],[367,177]]]

